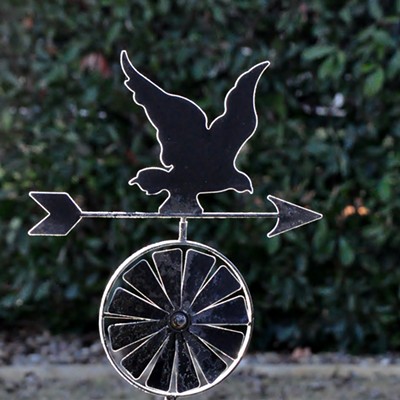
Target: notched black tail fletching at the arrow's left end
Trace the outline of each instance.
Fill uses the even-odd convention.
[[[30,236],[68,235],[82,218],[82,210],[68,193],[30,192],[29,196],[47,212],[47,216],[28,232]]]

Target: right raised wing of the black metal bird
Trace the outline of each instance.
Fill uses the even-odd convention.
[[[225,97],[225,112],[210,126],[215,146],[225,149],[231,160],[257,128],[255,92],[268,66],[268,61],[257,64],[237,79]]]

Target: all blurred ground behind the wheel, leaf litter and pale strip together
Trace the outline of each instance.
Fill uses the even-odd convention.
[[[0,331],[0,400],[127,399],[164,400],[126,383],[97,333]],[[400,400],[400,354],[248,354],[222,383],[187,399]]]

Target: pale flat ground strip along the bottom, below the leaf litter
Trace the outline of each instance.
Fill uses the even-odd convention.
[[[107,364],[0,368],[0,400],[155,400]],[[400,400],[398,365],[248,363],[193,400]]]

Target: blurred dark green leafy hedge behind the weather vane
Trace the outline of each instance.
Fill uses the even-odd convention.
[[[176,221],[85,220],[29,237],[30,190],[84,210],[155,211],[127,182],[158,163],[153,127],[119,55],[213,119],[236,78],[270,60],[259,126],[239,158],[253,195],[201,196],[209,211],[273,211],[273,194],[324,219],[268,240],[273,221],[191,221],[253,294],[257,350],[400,350],[399,0],[2,0],[0,319],[97,329],[106,281]]]

